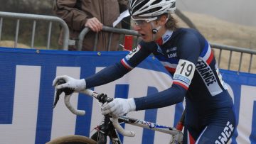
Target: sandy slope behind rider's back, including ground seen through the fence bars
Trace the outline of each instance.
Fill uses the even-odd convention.
[[[200,31],[210,43],[256,50],[256,27],[241,26],[236,23],[230,23],[213,16],[199,13],[188,13],[184,11],[183,13],[191,19],[196,25],[196,28],[198,28],[198,31]],[[178,19],[178,24],[181,27],[187,27],[181,19]],[[249,72],[250,67],[250,73],[256,73],[256,55],[232,52],[230,57],[229,51],[222,50],[219,59],[220,51],[214,50],[214,53],[216,59],[220,62],[219,67],[221,69]]]

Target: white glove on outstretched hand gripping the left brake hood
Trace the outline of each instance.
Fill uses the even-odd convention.
[[[57,85],[57,82],[60,79],[64,79],[65,83]],[[85,89],[86,82],[85,79],[74,79],[73,77],[63,75],[55,77],[55,79],[53,80],[53,87],[55,87],[55,89],[70,88],[73,89],[75,92],[80,92]]]

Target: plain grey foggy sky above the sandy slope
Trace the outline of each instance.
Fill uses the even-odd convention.
[[[215,16],[245,26],[256,26],[256,0],[176,0],[181,11]]]

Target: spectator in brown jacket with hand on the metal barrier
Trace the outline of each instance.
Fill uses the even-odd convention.
[[[95,36],[97,36],[97,50],[105,51],[110,43],[110,33],[102,32],[102,26],[112,26],[120,13],[119,4],[127,4],[126,1],[128,0],[55,0],[53,10],[68,24],[70,39],[76,40],[76,43],[80,31],[85,26],[92,30],[85,35],[82,50],[92,51],[95,45]],[[121,24],[119,23],[116,27],[121,28]],[[61,32],[60,45],[63,43],[62,36],[63,33]],[[113,33],[110,50],[118,50],[118,48],[119,34]],[[69,50],[77,50],[77,48],[71,46]]]

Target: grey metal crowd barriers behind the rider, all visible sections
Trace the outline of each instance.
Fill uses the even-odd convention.
[[[47,38],[47,46],[46,48],[50,48],[50,38],[51,38],[51,29],[52,23],[57,22],[60,26],[63,27],[63,50],[68,50],[68,45],[76,45],[78,50],[82,50],[82,41],[85,35],[90,31],[89,28],[84,28],[79,35],[78,43],[74,43],[74,41],[69,39],[69,30],[68,26],[63,21],[63,19],[58,18],[56,16],[44,16],[44,15],[35,15],[35,14],[26,14],[26,13],[10,13],[10,12],[2,12],[0,11],[0,40],[1,40],[1,31],[4,22],[4,18],[13,18],[16,20],[16,33],[14,38],[14,48],[17,47],[18,43],[18,31],[20,26],[20,19],[28,19],[33,22],[33,26],[31,29],[31,48],[34,45],[35,39],[35,31],[36,31],[36,22],[44,21],[48,23],[48,38]],[[29,31],[29,29],[28,29]],[[134,47],[138,43],[139,33],[137,31],[122,29],[122,28],[112,28],[103,26],[102,31],[108,33],[119,33],[120,41],[119,44],[124,45],[125,35],[133,35],[133,45]],[[110,42],[112,40],[112,35],[110,35]],[[94,45],[97,45],[97,36],[95,37]],[[108,50],[110,50],[110,45],[108,45]],[[220,45],[216,43],[210,43],[210,46],[214,50],[215,57],[218,61],[218,65],[221,69],[225,70],[235,70],[238,72],[249,72],[256,73],[256,50],[250,50],[248,48],[238,48],[234,46],[228,45]],[[94,50],[97,50],[96,46],[94,46]]]

